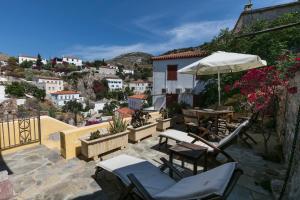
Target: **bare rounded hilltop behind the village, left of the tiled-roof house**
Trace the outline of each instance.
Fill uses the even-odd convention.
[[[136,65],[148,68],[152,67],[152,56],[153,55],[144,52],[132,52],[119,55],[106,62],[114,65],[123,65],[127,69],[134,69]]]

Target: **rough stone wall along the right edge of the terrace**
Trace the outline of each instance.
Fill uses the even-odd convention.
[[[295,125],[297,121],[298,108],[300,106],[300,72],[296,73],[295,78],[290,82],[291,86],[298,87],[296,94],[287,94],[285,106],[285,120],[278,119],[277,121],[284,121],[284,140],[283,140],[283,153],[285,161],[288,163],[292,143],[295,135]],[[288,199],[299,199],[300,197],[300,133],[297,139],[297,146],[295,150],[295,157],[293,159],[293,166],[289,179],[288,188],[285,192]]]

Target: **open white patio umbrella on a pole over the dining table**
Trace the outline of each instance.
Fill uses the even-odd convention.
[[[239,72],[257,67],[266,66],[267,62],[257,55],[230,53],[217,51],[210,56],[198,60],[178,72],[194,75],[218,74],[219,106],[221,104],[220,74]]]

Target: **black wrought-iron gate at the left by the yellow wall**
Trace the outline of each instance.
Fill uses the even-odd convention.
[[[0,113],[0,151],[41,141],[40,113]]]

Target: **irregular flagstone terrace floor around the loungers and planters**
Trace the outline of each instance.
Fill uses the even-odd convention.
[[[103,157],[107,159],[121,153],[145,158],[159,165],[159,157],[167,157],[157,150],[158,138],[148,138],[139,144],[130,144],[127,149],[115,151]],[[269,175],[278,176],[279,164],[267,162],[253,150],[235,144],[227,149],[244,170],[234,188],[230,200],[273,199],[272,195],[255,182]],[[79,158],[63,159],[57,150],[41,145],[2,156],[0,169],[9,169],[14,185],[15,199],[117,199],[121,185],[108,172],[93,178],[95,162]],[[199,168],[200,169],[200,168]],[[277,170],[278,169],[278,170]]]

